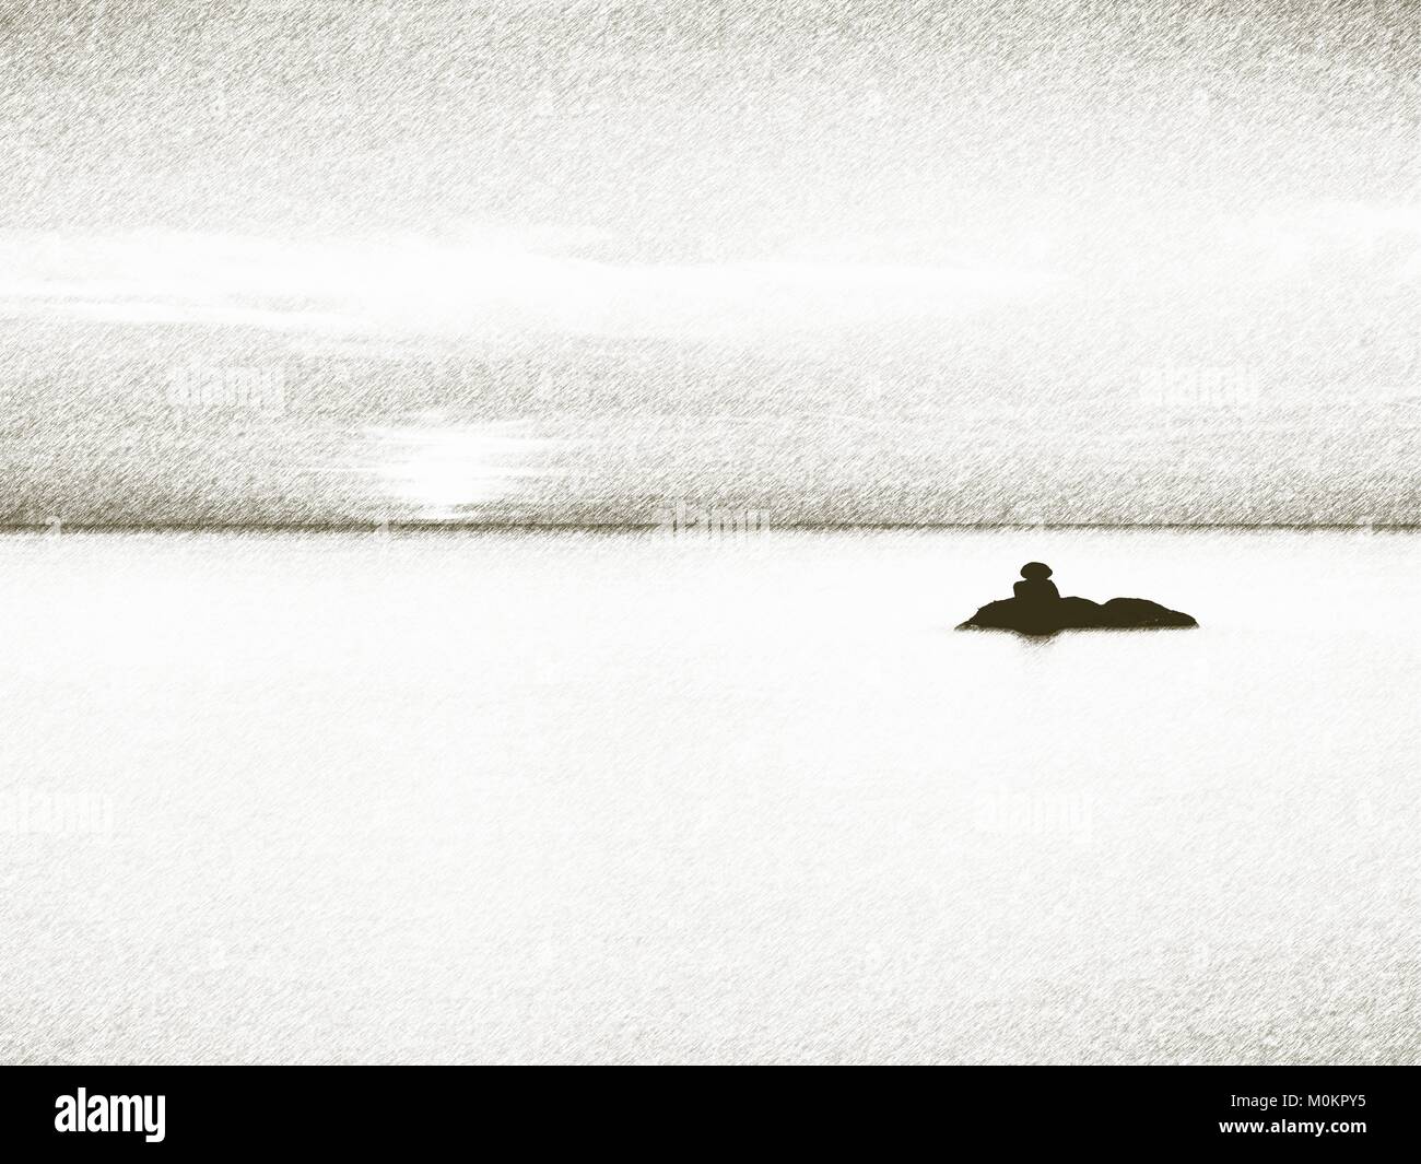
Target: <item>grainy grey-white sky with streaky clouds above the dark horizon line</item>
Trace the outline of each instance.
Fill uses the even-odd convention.
[[[0,519],[1414,522],[1418,43],[10,3]]]

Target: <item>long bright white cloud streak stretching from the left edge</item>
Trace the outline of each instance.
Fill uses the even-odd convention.
[[[0,236],[0,316],[475,341],[701,337],[944,318],[1052,286],[1006,266],[578,257],[594,240],[556,229],[306,243],[10,233]]]

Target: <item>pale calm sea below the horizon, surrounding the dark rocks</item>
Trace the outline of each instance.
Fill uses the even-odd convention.
[[[1418,1062],[1417,550],[6,536],[0,1059]]]

